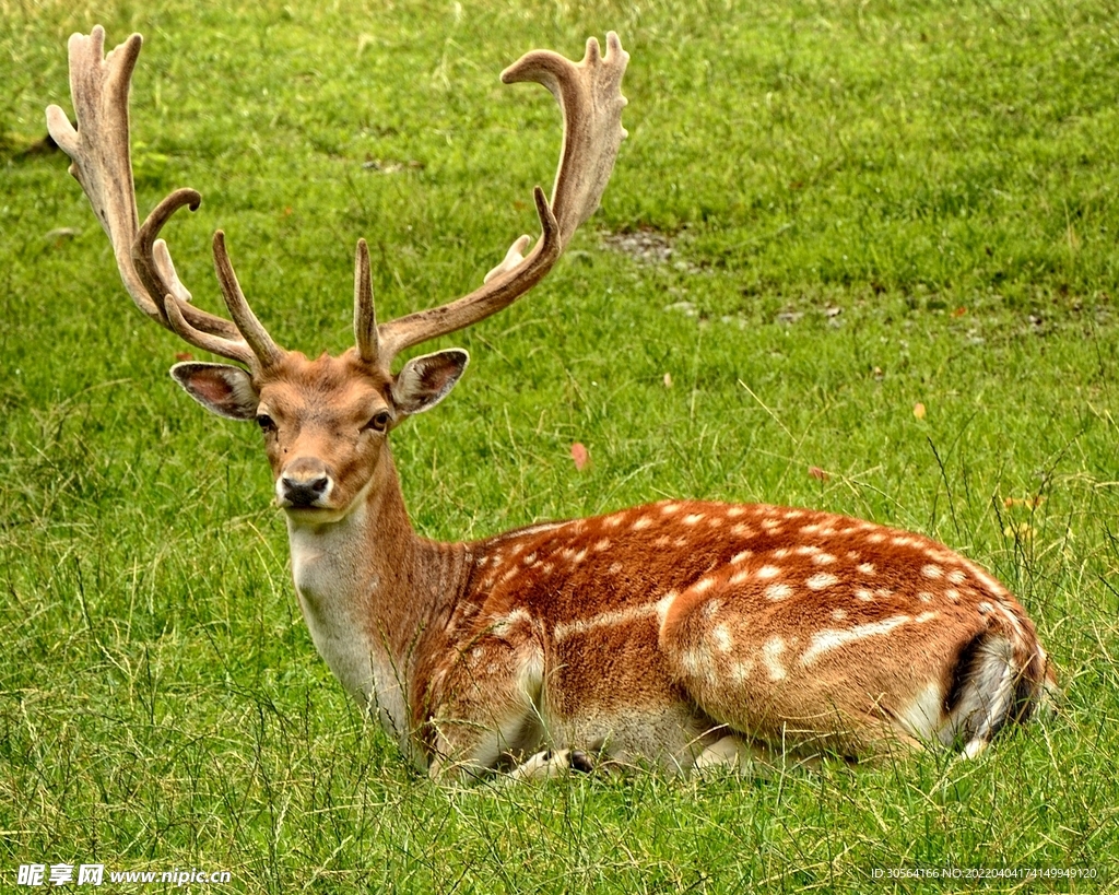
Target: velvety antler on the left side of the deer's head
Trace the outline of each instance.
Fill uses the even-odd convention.
[[[129,150],[129,86],[143,39],[132,35],[104,55],[105,30],[69,39],[70,95],[77,130],[57,105],[47,109],[47,130],[70,157],[70,173],[82,185],[94,214],[109,235],[116,267],[132,301],[149,318],[206,351],[254,369],[274,365],[282,356],[245,302],[225,252],[220,230],[214,236],[214,262],[233,322],[190,304],[167,243],[157,238],[182,206],[198,208],[201,196],[178,189],[138,226],[132,159]]]

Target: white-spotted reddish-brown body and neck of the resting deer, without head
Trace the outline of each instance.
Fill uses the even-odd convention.
[[[392,515],[367,498],[291,526],[295,585],[344,686],[436,772],[576,748],[677,771],[767,745],[975,753],[1047,673],[1006,588],[920,535],[664,501],[434,544],[392,493]]]

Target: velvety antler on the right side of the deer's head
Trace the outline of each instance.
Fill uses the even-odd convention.
[[[621,82],[628,62],[629,54],[622,49],[618,35],[610,31],[605,56],[600,54],[599,41],[592,37],[586,41],[586,54],[581,63],[537,49],[525,54],[501,73],[506,84],[524,81],[543,84],[556,97],[563,114],[563,150],[552,200],[545,199],[539,187],[533,194],[542,234],[527,257],[524,252],[530,237],[517,239],[505,260],[486,275],[482,286],[469,295],[380,326],[376,324],[373,312],[368,256],[365,255],[363,273],[363,248],[359,246],[355,272],[355,329],[358,350],[365,360],[387,369],[405,348],[454,332],[507,308],[544,277],[579,226],[599,207],[610,180],[618,149],[627,136],[621,126],[621,112],[627,102],[621,95]],[[359,282],[363,276],[365,281]]]

